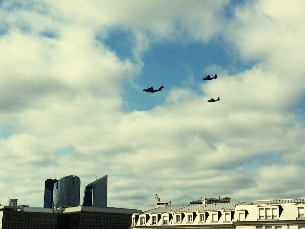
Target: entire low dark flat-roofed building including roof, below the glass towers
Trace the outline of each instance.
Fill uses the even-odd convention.
[[[137,209],[0,206],[0,229],[128,229]]]

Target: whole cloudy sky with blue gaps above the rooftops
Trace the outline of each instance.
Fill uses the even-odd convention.
[[[0,203],[106,174],[109,207],[304,198],[304,8],[0,0]]]

